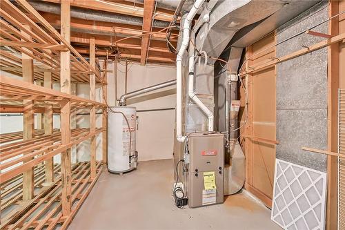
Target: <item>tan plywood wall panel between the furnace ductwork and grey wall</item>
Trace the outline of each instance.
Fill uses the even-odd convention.
[[[250,58],[249,66],[255,66],[275,57],[274,44],[275,33],[272,32],[250,46],[253,49],[253,56]],[[248,98],[253,103],[253,106],[248,108],[248,114],[252,116],[252,119],[249,119],[247,125],[253,126],[253,137],[275,140],[275,67],[254,73],[252,79],[252,90],[248,92]],[[243,106],[239,117],[241,124],[244,124],[246,119],[244,88],[239,89],[239,99]],[[244,134],[244,129],[239,133]],[[245,134],[248,135],[248,133]],[[250,150],[250,153],[246,153],[246,166],[250,168],[247,169],[246,189],[270,207],[275,171],[275,145],[259,142],[250,137],[245,138],[244,141],[250,146],[246,148],[247,151]]]

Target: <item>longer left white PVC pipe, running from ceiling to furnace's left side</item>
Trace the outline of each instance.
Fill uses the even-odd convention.
[[[184,21],[182,44],[176,57],[176,139],[179,142],[184,142],[186,139],[186,137],[182,135],[182,57],[189,44],[190,23],[204,1],[205,0],[196,0],[192,9],[188,12],[186,20]]]

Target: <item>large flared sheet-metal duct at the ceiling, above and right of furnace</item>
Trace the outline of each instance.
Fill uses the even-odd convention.
[[[219,57],[235,33],[245,26],[265,19],[284,7],[283,1],[218,1],[210,14],[210,22],[199,30],[197,50],[204,50],[211,57]],[[214,59],[208,63],[214,64]]]

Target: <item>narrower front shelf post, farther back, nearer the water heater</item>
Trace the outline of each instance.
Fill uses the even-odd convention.
[[[96,67],[96,51],[95,51],[95,38],[90,38],[90,66],[92,68]],[[96,88],[96,76],[95,74],[90,75],[90,100],[95,101],[95,88]],[[95,133],[96,131],[96,108],[92,105],[90,109],[90,133]],[[90,138],[90,169],[91,169],[91,179],[96,177],[96,135]]]

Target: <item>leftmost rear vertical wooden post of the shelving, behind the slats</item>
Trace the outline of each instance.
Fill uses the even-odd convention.
[[[23,28],[30,30],[30,26],[23,25]],[[30,35],[21,31],[23,37],[31,39]],[[25,49],[25,48],[23,48]],[[28,51],[28,50],[27,50]],[[30,51],[28,51],[30,52]],[[32,53],[32,52],[30,52]],[[34,61],[28,55],[21,54],[23,81],[34,83]],[[29,140],[34,137],[34,102],[32,100],[23,100],[23,140]],[[23,163],[32,159],[25,160]],[[34,197],[34,171],[29,169],[23,173],[23,200],[30,200]]]

